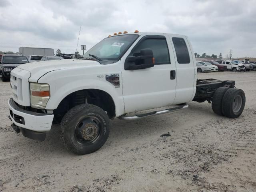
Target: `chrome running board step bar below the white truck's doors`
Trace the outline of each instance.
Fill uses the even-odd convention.
[[[160,114],[164,114],[164,113],[170,113],[170,112],[174,112],[174,111],[178,111],[178,110],[182,110],[182,109],[186,109],[186,108],[188,108],[188,104],[180,105],[180,106],[177,106],[174,108],[165,109],[165,110],[161,110],[161,111],[153,111],[153,112],[149,112],[149,113],[138,114],[135,116],[122,115],[119,117],[119,119],[121,119],[121,120],[136,120],[136,119],[140,119],[140,118],[144,118],[144,117],[160,115]]]

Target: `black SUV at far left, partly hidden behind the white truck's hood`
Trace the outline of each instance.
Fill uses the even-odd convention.
[[[0,61],[0,77],[2,81],[10,80],[11,71],[24,63],[28,63],[28,59],[22,54],[3,54]]]

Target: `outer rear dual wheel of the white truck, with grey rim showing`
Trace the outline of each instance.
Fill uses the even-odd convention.
[[[245,94],[241,89],[230,88],[222,99],[222,113],[229,118],[239,117],[245,106]]]

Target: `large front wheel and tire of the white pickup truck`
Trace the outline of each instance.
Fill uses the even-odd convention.
[[[101,148],[110,132],[110,120],[104,110],[81,104],[69,110],[60,124],[60,138],[66,148],[78,155]]]

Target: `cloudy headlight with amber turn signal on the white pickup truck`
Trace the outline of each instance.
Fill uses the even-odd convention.
[[[50,98],[50,86],[48,84],[30,83],[31,106],[44,109]]]

